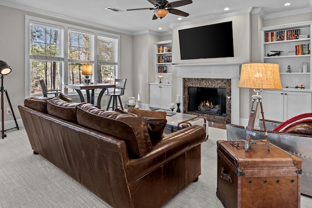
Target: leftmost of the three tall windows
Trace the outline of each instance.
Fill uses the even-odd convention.
[[[59,89],[59,69],[64,60],[62,37],[62,28],[30,23],[31,95],[42,94],[41,79],[48,90]]]

